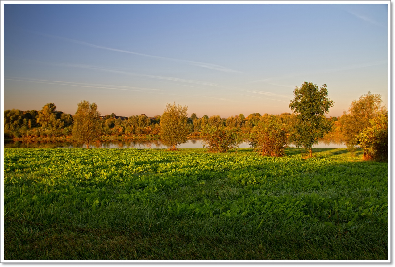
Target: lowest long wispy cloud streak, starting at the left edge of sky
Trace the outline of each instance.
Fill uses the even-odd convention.
[[[154,89],[154,88],[120,86],[120,85],[100,85],[100,84],[94,84],[94,83],[74,83],[74,82],[40,80],[40,79],[4,78],[4,80],[21,81],[21,82],[29,82],[29,83],[45,83],[45,84],[51,84],[51,85],[67,85],[67,86],[77,86],[77,87],[87,87],[87,88],[127,90],[127,91],[146,91],[146,90],[162,91],[161,89]]]

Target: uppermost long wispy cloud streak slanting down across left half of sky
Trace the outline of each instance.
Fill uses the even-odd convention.
[[[40,34],[42,36],[56,38],[56,39],[62,39],[62,40],[65,40],[65,41],[69,41],[71,43],[77,43],[77,44],[80,44],[80,45],[85,45],[85,46],[88,46],[88,47],[93,47],[93,48],[98,48],[98,49],[105,49],[105,50],[109,50],[109,51],[133,54],[133,55],[138,55],[138,56],[147,56],[147,57],[150,57],[150,58],[158,58],[158,59],[161,59],[161,60],[169,60],[169,61],[173,61],[173,62],[189,64],[189,65],[192,65],[192,66],[198,66],[198,67],[207,68],[207,69],[211,69],[211,70],[218,70],[218,71],[224,71],[224,72],[239,72],[239,73],[241,73],[241,71],[231,70],[231,69],[226,68],[224,66],[220,66],[220,65],[216,65],[216,64],[212,64],[212,63],[198,62],[198,61],[191,61],[191,60],[182,60],[182,59],[177,59],[177,58],[167,58],[167,57],[164,57],[164,56],[147,55],[147,54],[137,53],[137,52],[133,52],[133,51],[127,51],[127,50],[122,50],[122,49],[105,47],[105,46],[101,46],[101,45],[95,45],[95,44],[92,44],[92,43],[87,43],[87,42],[79,41],[79,40],[75,40],[75,39],[55,36],[55,35],[51,35],[51,34],[44,34],[44,33],[41,33],[41,32],[34,32],[34,33]]]

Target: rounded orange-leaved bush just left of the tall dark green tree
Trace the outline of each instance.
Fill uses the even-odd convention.
[[[275,116],[265,116],[253,128],[250,142],[262,156],[282,157],[287,145],[286,129]]]

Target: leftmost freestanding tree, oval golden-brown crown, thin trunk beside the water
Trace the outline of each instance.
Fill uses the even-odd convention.
[[[81,144],[87,145],[96,141],[101,135],[101,126],[99,121],[100,112],[96,103],[90,104],[83,100],[78,103],[77,111],[73,116],[73,130],[71,135],[73,139]]]

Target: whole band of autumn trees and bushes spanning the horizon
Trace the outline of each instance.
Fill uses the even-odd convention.
[[[312,156],[312,146],[325,134],[339,135],[352,154],[363,148],[364,159],[387,158],[387,109],[381,96],[367,94],[354,100],[340,117],[325,117],[333,101],[327,98],[327,86],[318,88],[304,82],[295,87],[290,102],[293,113],[271,115],[252,113],[221,118],[219,115],[187,117],[186,106],[167,103],[162,115],[145,114],[119,117],[101,116],[95,103],[81,101],[75,115],[56,111],[53,103],[40,111],[4,111],[4,135],[14,138],[61,137],[87,145],[100,137],[160,137],[170,149],[185,143],[190,136],[203,138],[211,152],[228,152],[245,139],[263,156],[284,156],[287,142],[304,147]]]

